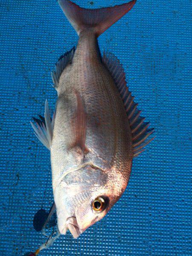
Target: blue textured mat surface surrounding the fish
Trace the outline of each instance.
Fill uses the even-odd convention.
[[[76,0],[97,8],[122,0]],[[42,256],[191,255],[192,66],[190,1],[138,0],[99,38],[122,62],[157,138],[134,160],[108,215],[79,239],[60,237]],[[52,108],[50,71],[78,37],[55,0],[0,0],[0,255],[20,256],[45,238],[32,226],[52,204],[49,152],[29,121]]]

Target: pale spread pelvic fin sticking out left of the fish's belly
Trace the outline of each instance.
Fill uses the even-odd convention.
[[[52,119],[49,112],[49,105],[46,100],[45,102],[45,112],[44,117],[39,116],[40,119],[33,117],[35,124],[31,122],[32,128],[34,130],[35,136],[41,143],[44,144],[46,148],[50,150],[51,143],[52,143],[52,132],[54,128],[55,122],[55,113],[53,113]]]

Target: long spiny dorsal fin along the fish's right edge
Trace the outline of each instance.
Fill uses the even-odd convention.
[[[152,137],[147,140],[147,138],[154,132],[154,128],[148,128],[150,124],[144,122],[145,118],[140,116],[141,111],[138,110],[138,104],[134,102],[134,96],[132,96],[131,92],[128,90],[125,72],[118,58],[110,52],[104,52],[102,62],[111,73],[124,102],[132,132],[134,157],[136,157],[144,151],[143,147],[154,139],[154,137]]]

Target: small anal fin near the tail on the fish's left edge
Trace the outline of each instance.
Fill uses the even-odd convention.
[[[57,90],[61,73],[63,72],[67,64],[71,63],[75,50],[76,48],[73,47],[70,51],[65,52],[65,54],[61,55],[61,57],[58,59],[58,62],[55,64],[55,71],[51,72],[52,81],[54,83],[53,87],[55,88],[55,90]]]

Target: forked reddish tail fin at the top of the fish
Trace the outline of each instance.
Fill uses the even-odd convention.
[[[100,9],[84,9],[69,0],[58,0],[58,3],[78,35],[84,29],[94,28],[99,36],[130,11],[136,0]]]

